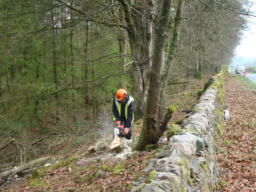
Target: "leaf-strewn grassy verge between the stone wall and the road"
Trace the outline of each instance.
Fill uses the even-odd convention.
[[[256,191],[256,85],[229,73],[225,82],[224,121],[218,142],[219,191]]]

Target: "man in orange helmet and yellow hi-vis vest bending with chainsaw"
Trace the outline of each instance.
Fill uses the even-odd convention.
[[[132,138],[133,98],[124,89],[119,89],[113,100],[113,121],[116,126],[123,125],[119,137]]]

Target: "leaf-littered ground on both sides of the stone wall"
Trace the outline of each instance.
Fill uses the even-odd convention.
[[[198,100],[197,90],[204,87],[204,83],[212,75],[204,75],[202,81],[189,78],[186,80],[189,83],[169,87],[167,106],[174,104],[177,108],[170,124],[175,124],[176,120],[185,115],[181,112],[183,109],[192,108]],[[225,104],[229,110],[230,119],[224,122],[223,135],[217,147],[220,173],[217,191],[256,191],[256,88],[252,89],[248,81],[244,81],[242,78],[229,73],[225,82]],[[184,96],[183,93],[189,93],[190,96]],[[142,123],[142,120],[134,123],[133,136],[140,132]],[[159,148],[156,150],[137,152],[132,150],[131,140],[126,140],[127,147],[124,152],[111,152],[108,146],[112,138],[112,127],[109,129],[108,134],[104,134],[97,127],[91,131],[93,138],[92,134],[87,134],[87,137],[83,138],[83,142],[79,140],[80,142],[77,142],[76,145],[72,145],[73,148],[70,148],[69,152],[63,150],[58,153],[59,155],[54,155],[53,157],[58,159],[60,155],[68,154],[59,161],[52,161],[50,166],[42,167],[40,178],[31,180],[31,174],[28,174],[20,177],[21,179],[16,182],[6,184],[3,191],[128,192],[134,186],[132,181],[137,181],[139,177],[141,177],[141,182],[146,182],[148,174],[142,172],[142,169],[147,166],[147,160],[161,151],[161,145],[166,142],[164,140],[159,142]],[[99,131],[97,132],[97,130]],[[99,141],[100,143],[98,143]],[[98,143],[97,151],[89,153],[88,147],[95,143]],[[113,168],[120,163],[123,165],[123,170],[118,174],[113,174]],[[110,175],[105,178],[95,178],[95,171],[102,165],[110,167]]]

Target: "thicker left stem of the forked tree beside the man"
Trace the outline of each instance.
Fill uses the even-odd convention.
[[[168,23],[167,18],[170,5],[172,5],[172,1],[163,1],[162,10],[156,23],[155,46],[152,66],[149,73],[147,103],[145,106],[142,131],[138,138],[141,145],[136,146],[138,150],[143,149],[145,144],[155,143],[158,137],[157,111],[162,86],[161,75],[163,74],[165,64],[165,42],[167,41],[168,35],[166,24]]]

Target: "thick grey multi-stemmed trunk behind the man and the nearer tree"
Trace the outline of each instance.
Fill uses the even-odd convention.
[[[147,1],[147,14],[145,16],[134,12],[134,20],[130,12],[130,6],[124,0],[119,0],[124,10],[124,18],[127,24],[131,55],[133,63],[132,90],[134,102],[134,118],[143,115],[148,88],[148,70],[151,67],[150,57],[152,48],[152,18],[153,2]],[[144,19],[144,17],[146,17]]]

